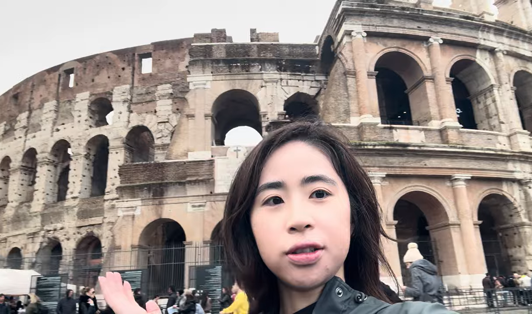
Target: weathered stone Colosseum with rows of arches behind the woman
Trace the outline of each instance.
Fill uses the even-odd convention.
[[[213,29],[36,73],[0,96],[2,267],[193,285],[252,148],[228,131],[315,114],[367,169],[400,282],[410,241],[449,287],[532,269],[532,4],[495,5],[337,1],[313,43]]]

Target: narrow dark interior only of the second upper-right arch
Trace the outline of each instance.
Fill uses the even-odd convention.
[[[451,68],[450,77],[453,79],[452,88],[458,122],[463,126],[464,129],[476,130],[478,127],[477,122],[475,121],[473,105],[469,99],[471,96],[470,90],[460,79],[460,73],[463,73],[462,71],[471,67],[473,63],[475,63],[475,61],[469,59],[457,61]]]

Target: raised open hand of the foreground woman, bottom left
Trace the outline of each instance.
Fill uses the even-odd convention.
[[[131,285],[122,284],[122,276],[118,272],[107,271],[105,277],[99,277],[105,302],[115,314],[161,314],[159,305],[153,301],[146,302],[146,310],[141,308],[133,296]]]

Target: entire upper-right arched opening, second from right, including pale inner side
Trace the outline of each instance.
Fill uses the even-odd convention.
[[[461,59],[451,67],[450,77],[458,122],[465,129],[498,131],[495,90],[484,68],[476,61]]]

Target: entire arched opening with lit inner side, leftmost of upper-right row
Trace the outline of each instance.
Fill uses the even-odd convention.
[[[430,120],[423,70],[408,54],[391,51],[375,63],[381,121],[387,125],[420,125]]]

